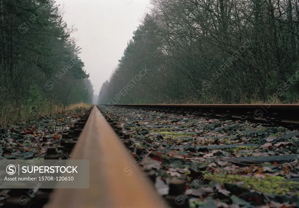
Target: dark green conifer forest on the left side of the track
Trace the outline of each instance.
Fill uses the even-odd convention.
[[[91,103],[93,87],[64,11],[50,0],[0,0],[0,124]]]

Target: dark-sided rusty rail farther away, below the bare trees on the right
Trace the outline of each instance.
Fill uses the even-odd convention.
[[[111,106],[111,105],[104,105]],[[144,108],[161,112],[191,113],[208,118],[261,122],[266,125],[286,125],[298,128],[298,104],[116,104],[113,106]]]

